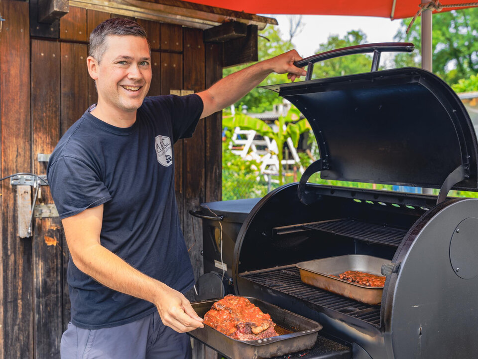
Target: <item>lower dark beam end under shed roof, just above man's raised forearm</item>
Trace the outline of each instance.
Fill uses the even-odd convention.
[[[247,35],[223,44],[223,66],[230,67],[258,60],[257,26],[248,25]]]

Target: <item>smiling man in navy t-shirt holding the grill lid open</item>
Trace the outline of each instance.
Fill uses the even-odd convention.
[[[71,322],[61,358],[190,358],[203,327],[184,297],[193,270],[177,214],[173,144],[272,72],[305,75],[296,51],[189,96],[146,97],[151,58],[136,22],[112,18],[90,36],[98,103],[65,133],[47,168],[70,250]],[[220,134],[217,134],[220,136]]]

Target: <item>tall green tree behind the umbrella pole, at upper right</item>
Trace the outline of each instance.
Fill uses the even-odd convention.
[[[417,53],[421,51],[420,21],[418,17],[408,35],[406,29],[411,19],[404,19],[395,35],[398,41],[413,42]],[[433,14],[433,72],[447,83],[457,83],[478,72],[478,8]],[[395,64],[420,66],[420,58],[397,54]]]

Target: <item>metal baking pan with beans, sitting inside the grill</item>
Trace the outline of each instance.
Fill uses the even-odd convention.
[[[376,305],[382,301],[383,287],[367,287],[332,276],[339,276],[348,270],[382,275],[382,265],[389,263],[388,259],[350,254],[300,262],[296,266],[304,283],[362,303]]]

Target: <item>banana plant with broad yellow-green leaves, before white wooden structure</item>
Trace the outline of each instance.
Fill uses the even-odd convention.
[[[279,116],[279,118],[274,121],[277,132],[273,131],[264,121],[241,113],[236,113],[236,115],[230,117],[223,117],[223,126],[228,128],[239,127],[243,130],[254,130],[261,136],[267,136],[271,140],[275,140],[278,149],[276,155],[280,164],[282,163],[282,153],[287,139],[290,137],[294,147],[297,147],[300,134],[311,129],[307,120],[299,120],[299,118],[299,110],[295,107],[291,108],[286,116]],[[293,123],[294,121],[297,122]],[[282,184],[282,167],[279,166],[279,185]]]

